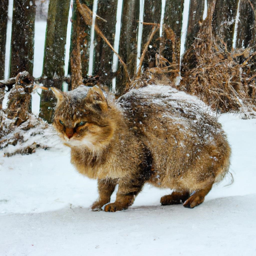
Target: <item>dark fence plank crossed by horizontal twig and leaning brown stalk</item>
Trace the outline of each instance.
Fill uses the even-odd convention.
[[[162,11],[162,1],[145,0],[143,22],[160,24],[161,11]],[[143,25],[142,42],[141,42],[142,51],[151,35],[151,32],[152,32],[152,26]],[[147,67],[149,68],[155,67],[155,55],[157,52],[159,53],[159,47],[160,47],[159,33],[156,33],[154,35],[150,45],[152,47],[151,46],[148,47],[147,53],[142,63],[143,69],[146,69]]]

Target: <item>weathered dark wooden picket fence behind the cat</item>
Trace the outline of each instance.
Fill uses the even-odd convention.
[[[73,1],[73,0],[72,0]],[[95,1],[95,0],[94,0]],[[216,1],[216,4],[215,4]],[[127,69],[134,76],[138,47],[138,28],[141,4],[144,2],[143,32],[141,38],[141,53],[148,42],[152,31],[152,24],[161,23],[162,1],[161,0],[123,0],[121,33],[119,43],[119,55],[127,65]],[[208,0],[208,7],[215,4],[215,11],[212,20],[213,32],[226,43],[229,50],[234,45],[236,47],[248,47],[255,45],[255,0]],[[80,3],[88,6],[91,10],[93,0],[80,0]],[[185,2],[186,4],[187,2]],[[76,1],[73,3],[70,67],[81,65],[82,78],[88,77],[89,51],[91,26],[88,25],[79,14]],[[111,45],[114,45],[116,14],[118,0],[98,0],[95,26],[102,31]],[[44,51],[44,65],[41,78],[36,79],[45,87],[62,87],[63,81],[68,82],[71,89],[72,69],[69,68],[68,77],[64,77],[65,44],[67,36],[68,13],[70,0],[50,0],[48,8],[46,42]],[[162,47],[164,57],[168,61],[179,63],[180,38],[183,20],[184,0],[166,0],[163,18],[164,28],[168,27],[174,32],[175,37],[165,37],[159,39],[159,33],[155,34],[143,61],[144,69],[154,67],[155,56],[159,47]],[[4,79],[4,62],[6,46],[6,27],[8,0],[1,0],[0,6],[0,80]],[[187,26],[187,36],[185,50],[191,47],[194,38],[197,36],[205,10],[205,0],[190,0],[189,17]],[[237,13],[239,20],[236,22]],[[14,0],[12,19],[12,39],[10,52],[10,72],[9,77],[15,77],[20,71],[33,73],[34,56],[34,24],[35,24],[35,0]],[[151,24],[151,25],[150,25]],[[237,24],[236,42],[233,42],[235,25]],[[77,40],[79,38],[79,40]],[[172,42],[175,38],[175,42]],[[175,44],[175,48],[173,48]],[[116,77],[116,91],[121,92],[127,82],[127,75],[124,67],[120,65],[117,72],[112,71],[113,51],[102,37],[95,33],[93,56],[93,76],[98,76],[101,83],[111,89],[112,78]],[[79,48],[81,63],[76,63],[74,50]],[[174,50],[175,49],[175,50]],[[7,53],[9,54],[9,53]],[[72,62],[72,63],[71,63]],[[71,77],[71,79],[70,79]],[[9,85],[12,83],[10,82]],[[0,83],[0,87],[5,87],[6,83]],[[50,121],[52,107],[55,100],[49,91],[44,91],[41,95],[40,116]]]

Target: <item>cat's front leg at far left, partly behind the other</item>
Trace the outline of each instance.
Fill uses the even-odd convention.
[[[117,179],[98,179],[99,198],[91,206],[93,211],[101,211],[101,207],[110,202],[116,183]]]

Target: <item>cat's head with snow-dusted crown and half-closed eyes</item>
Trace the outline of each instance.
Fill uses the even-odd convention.
[[[99,87],[80,86],[69,92],[53,87],[51,90],[58,100],[53,126],[66,145],[97,150],[109,144],[115,124],[111,107]]]

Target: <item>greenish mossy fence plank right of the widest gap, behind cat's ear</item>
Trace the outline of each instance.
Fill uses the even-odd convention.
[[[47,80],[45,86],[61,89],[64,66],[65,45],[70,1],[50,0],[46,27],[46,42],[43,75]],[[56,99],[51,91],[42,91],[39,116],[51,122]]]

